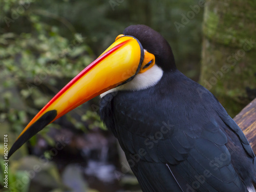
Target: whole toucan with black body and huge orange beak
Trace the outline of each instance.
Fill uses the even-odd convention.
[[[142,191],[255,191],[255,156],[240,127],[214,95],[176,68],[168,42],[144,25],[127,27],[60,90],[18,136],[9,157],[98,95],[101,120]]]

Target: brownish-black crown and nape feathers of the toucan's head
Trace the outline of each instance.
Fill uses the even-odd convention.
[[[163,71],[176,70],[172,48],[160,33],[145,25],[132,25],[124,29],[124,35],[136,37],[142,47],[156,57],[156,64]]]

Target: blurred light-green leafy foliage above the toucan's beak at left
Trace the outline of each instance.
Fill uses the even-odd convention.
[[[36,3],[25,5],[8,1],[0,11],[5,30],[0,35],[0,119],[8,120],[17,132],[58,88],[92,61],[92,51],[84,43],[85,37],[78,33],[71,39],[61,36],[58,26],[49,25],[44,22],[44,15],[34,13]],[[13,13],[19,7],[24,8],[24,13],[15,20]],[[13,22],[6,23],[8,18]],[[24,32],[26,27],[12,28],[20,22],[30,27],[29,32]]]

